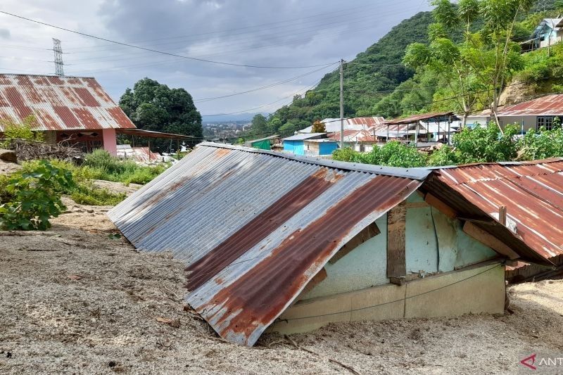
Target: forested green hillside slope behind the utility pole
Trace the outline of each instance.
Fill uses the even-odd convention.
[[[344,115],[367,115],[385,94],[390,93],[414,75],[401,63],[406,46],[426,42],[427,27],[432,22],[430,12],[421,12],[403,20],[365,52],[346,64]],[[320,84],[303,98],[279,108],[272,115],[274,130],[309,126],[315,119],[338,117],[340,113],[339,72],[324,76]],[[279,120],[274,120],[274,119]],[[277,125],[277,126],[276,126]],[[281,127],[280,127],[281,126]]]

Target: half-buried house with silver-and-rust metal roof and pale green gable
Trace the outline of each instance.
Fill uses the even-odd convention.
[[[186,302],[229,341],[329,322],[502,313],[505,261],[551,262],[431,170],[203,143],[108,212],[186,264]],[[454,204],[455,203],[455,204]]]

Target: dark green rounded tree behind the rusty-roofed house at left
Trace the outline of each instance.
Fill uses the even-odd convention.
[[[185,89],[170,89],[156,80],[144,78],[135,83],[133,89],[125,90],[119,105],[139,129],[196,137],[189,146],[198,143],[203,136],[201,115]],[[139,141],[136,140],[136,143]],[[146,144],[146,141],[140,143]],[[170,141],[151,141],[151,148],[153,151],[166,151],[170,148]],[[171,148],[171,152],[177,151],[175,142],[172,142]]]

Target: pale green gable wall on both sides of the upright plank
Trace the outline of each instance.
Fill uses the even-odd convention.
[[[459,220],[450,220],[431,209],[417,194],[407,198],[405,258],[407,274],[449,272],[457,267],[472,265],[497,255],[493,250],[464,234]],[[334,265],[324,268],[327,278],[301,300],[336,293],[359,291],[388,284],[387,215],[376,224],[381,234],[355,248]]]

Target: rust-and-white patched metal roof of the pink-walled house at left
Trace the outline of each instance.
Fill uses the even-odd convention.
[[[30,115],[37,130],[135,127],[94,78],[1,74],[0,132]]]

